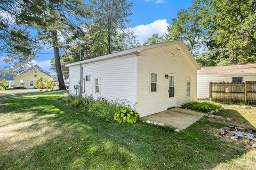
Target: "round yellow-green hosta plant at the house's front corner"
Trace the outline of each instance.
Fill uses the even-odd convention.
[[[136,123],[138,118],[139,114],[129,107],[118,108],[114,115],[114,121],[118,123]]]

